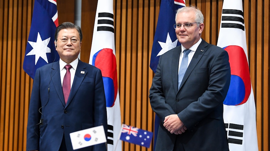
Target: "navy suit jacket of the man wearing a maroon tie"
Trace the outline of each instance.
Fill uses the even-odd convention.
[[[40,119],[43,119],[42,124],[39,124]],[[79,60],[67,104],[59,61],[37,69],[29,104],[26,150],[59,150],[65,134],[67,150],[73,151],[70,133],[99,125],[104,126],[107,136],[106,100],[100,69]],[[106,150],[106,144],[78,150]]]

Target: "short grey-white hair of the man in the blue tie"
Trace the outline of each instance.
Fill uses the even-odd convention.
[[[195,22],[200,22],[200,23],[203,23],[204,21],[204,17],[203,17],[203,14],[202,12],[200,11],[199,8],[195,7],[195,6],[189,6],[189,7],[182,7],[182,8],[179,8],[176,12],[176,15],[175,15],[175,22],[176,22],[176,17],[178,15],[178,13],[181,13],[181,12],[195,12]],[[200,24],[198,24],[197,26],[200,26]]]

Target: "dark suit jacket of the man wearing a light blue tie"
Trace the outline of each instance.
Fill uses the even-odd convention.
[[[223,121],[231,79],[228,53],[202,40],[178,90],[180,52],[178,46],[160,56],[150,88],[150,104],[161,120],[156,151],[173,150],[175,143],[186,151],[229,150]],[[186,132],[176,135],[165,129],[164,118],[171,114],[178,114]]]

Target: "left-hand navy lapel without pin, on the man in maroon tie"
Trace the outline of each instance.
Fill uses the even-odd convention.
[[[51,76],[52,76],[51,80],[53,82],[53,85],[55,86],[55,91],[57,92],[58,97],[60,98],[63,106],[65,106],[65,99],[60,78],[59,61],[53,63]]]

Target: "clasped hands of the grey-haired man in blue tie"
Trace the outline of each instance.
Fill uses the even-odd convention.
[[[182,134],[187,130],[187,127],[184,123],[179,119],[177,114],[171,114],[165,117],[163,126],[171,133],[171,134]]]

